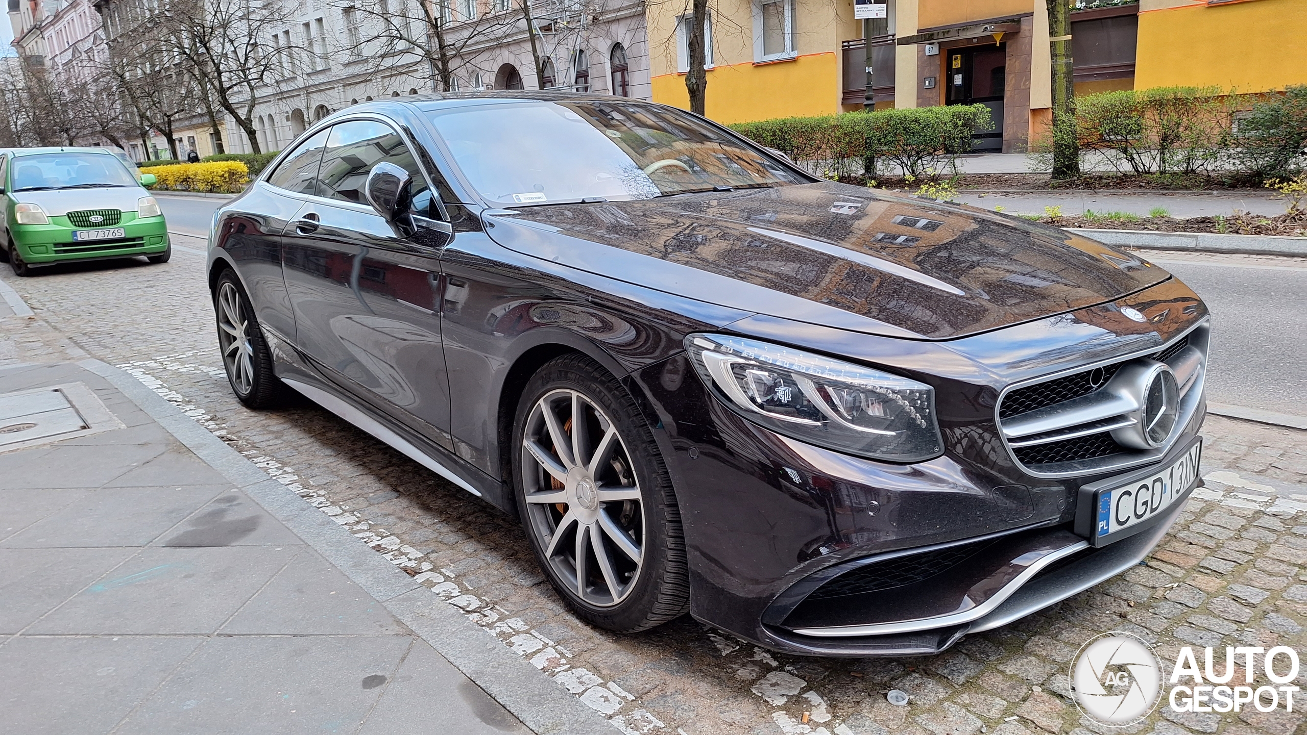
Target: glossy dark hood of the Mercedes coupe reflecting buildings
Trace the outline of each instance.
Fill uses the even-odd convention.
[[[718,305],[890,337],[950,339],[1069,312],[1170,277],[1018,218],[817,184],[531,206],[502,245]]]

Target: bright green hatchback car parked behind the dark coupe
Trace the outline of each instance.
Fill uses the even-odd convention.
[[[0,258],[18,275],[56,262],[167,262],[167,223],[135,171],[97,148],[0,149]]]

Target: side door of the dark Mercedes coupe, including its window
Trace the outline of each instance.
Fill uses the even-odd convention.
[[[341,389],[452,448],[438,305],[444,243],[406,236],[366,204],[363,185],[382,161],[409,171],[416,202],[430,201],[412,153],[388,125],[331,128],[318,195],[282,238],[295,342]]]

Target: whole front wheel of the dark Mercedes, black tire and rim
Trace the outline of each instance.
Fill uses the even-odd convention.
[[[572,420],[578,413],[583,422]],[[584,427],[579,435],[576,427]],[[553,436],[561,436],[562,452]],[[572,611],[621,633],[684,615],[690,584],[681,513],[630,393],[583,355],[557,358],[527,384],[512,437],[523,526],[541,569]],[[571,458],[575,443],[583,463]]]

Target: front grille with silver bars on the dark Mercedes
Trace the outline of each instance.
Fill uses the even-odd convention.
[[[1192,350],[1189,355],[1182,355],[1191,346],[1204,354],[1202,360],[1193,360]],[[1200,326],[1163,349],[1142,355],[1176,369],[1182,386],[1182,416],[1178,426],[1184,426],[1197,407],[1196,397],[1201,396],[1201,388],[1199,393],[1192,393],[1192,389],[1202,384],[1205,352],[1206,326]],[[1159,456],[1159,450],[1145,452],[1117,444],[1111,430],[1129,426],[1131,418],[1127,414],[1106,415],[1100,407],[1111,405],[1111,394],[1099,392],[1121,366],[1136,359],[1140,356],[1008,392],[999,405],[997,416],[1013,458],[1027,470],[1046,477],[1124,469],[1155,460],[1154,454]],[[1063,407],[1077,398],[1084,399]],[[1039,409],[1046,410],[1031,414]],[[1068,433],[1082,436],[1059,439]]]

